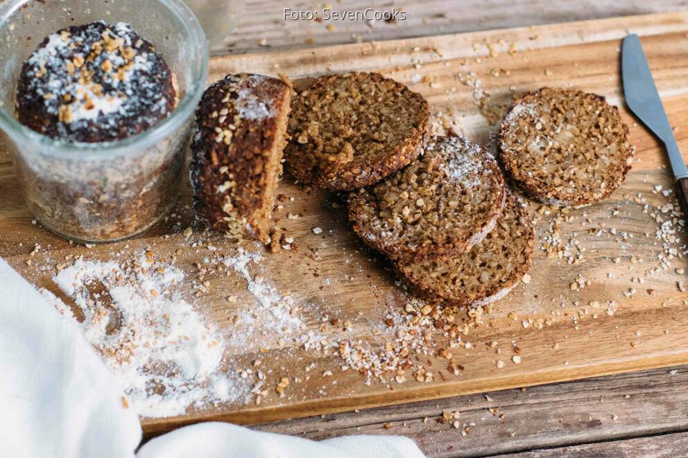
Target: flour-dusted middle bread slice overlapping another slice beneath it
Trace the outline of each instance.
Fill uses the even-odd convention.
[[[419,261],[465,252],[494,227],[504,178],[483,148],[436,136],[413,164],[351,193],[354,231],[391,258]]]

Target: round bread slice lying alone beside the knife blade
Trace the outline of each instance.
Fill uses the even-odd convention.
[[[525,191],[549,205],[580,206],[619,187],[633,160],[619,109],[596,94],[544,87],[509,109],[501,161]]]

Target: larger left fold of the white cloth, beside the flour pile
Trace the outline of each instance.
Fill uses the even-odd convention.
[[[0,456],[133,456],[138,417],[99,358],[0,259]]]

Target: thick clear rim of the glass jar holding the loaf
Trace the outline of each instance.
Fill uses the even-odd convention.
[[[24,4],[33,0],[6,0],[0,3],[0,26],[8,23],[12,15]],[[177,130],[187,120],[191,112],[196,109],[208,78],[208,44],[205,33],[196,15],[182,0],[155,0],[168,8],[184,25],[189,34],[191,44],[198,50],[191,53],[189,67],[192,69],[191,81],[185,91],[184,98],[179,101],[172,113],[160,123],[126,139],[103,141],[98,143],[64,141],[35,132],[20,123],[7,107],[0,107],[0,129],[6,135],[22,141],[28,141],[40,146],[42,154],[69,159],[102,159],[103,157],[121,157],[134,155],[138,151],[150,148],[160,143],[170,132]],[[132,148],[134,147],[135,148]]]

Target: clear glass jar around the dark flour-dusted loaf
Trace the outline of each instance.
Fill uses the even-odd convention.
[[[98,20],[130,23],[162,54],[177,83],[174,111],[146,132],[103,143],[67,143],[19,123],[24,60],[47,35]],[[3,1],[0,62],[0,129],[24,200],[45,227],[72,240],[110,242],[145,231],[172,208],[208,74],[203,30],[182,0]]]

